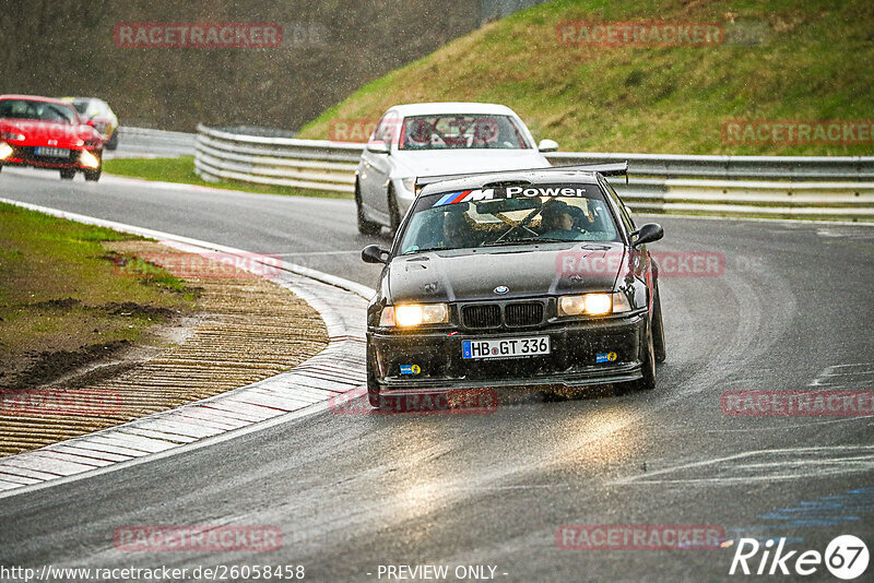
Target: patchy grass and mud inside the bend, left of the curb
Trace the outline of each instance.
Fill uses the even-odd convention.
[[[137,239],[0,204],[0,388],[50,381],[193,308],[158,267],[125,275],[102,241]]]

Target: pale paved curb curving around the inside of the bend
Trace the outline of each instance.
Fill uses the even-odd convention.
[[[252,253],[205,241],[0,199],[54,216],[109,227],[157,239],[197,253]],[[275,265],[270,265],[275,269]],[[115,471],[155,456],[208,447],[324,411],[329,400],[361,386],[365,380],[365,312],[374,290],[366,286],[283,262],[274,277],[297,294],[324,321],[329,344],[322,352],[283,372],[256,383],[150,415],[117,427],[0,459],[0,498]]]

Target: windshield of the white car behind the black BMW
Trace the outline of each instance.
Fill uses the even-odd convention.
[[[404,118],[399,150],[527,150],[509,116],[437,115]]]

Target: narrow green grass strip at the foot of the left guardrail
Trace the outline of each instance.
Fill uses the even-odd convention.
[[[256,194],[352,199],[352,194],[280,187],[273,185],[250,185],[248,182],[240,182],[237,180],[208,182],[194,172],[194,156],[181,156],[178,158],[115,158],[104,160],[103,169],[107,174],[126,176],[129,178],[156,180],[161,182],[177,182],[182,185],[196,185],[199,187],[218,188],[224,190],[239,190]]]

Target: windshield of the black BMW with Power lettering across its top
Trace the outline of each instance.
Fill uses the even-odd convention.
[[[598,185],[442,192],[416,201],[400,253],[557,241],[618,241]]]

